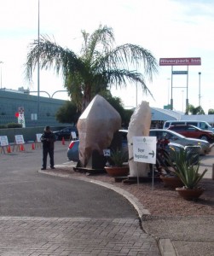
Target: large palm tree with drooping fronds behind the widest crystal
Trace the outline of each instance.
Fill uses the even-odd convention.
[[[123,87],[128,82],[141,84],[144,92],[152,96],[144,76],[152,81],[158,64],[147,49],[135,44],[114,47],[113,29],[107,26],[100,25],[91,34],[82,31],[82,37],[84,43],[80,55],[62,48],[47,36],[39,38],[39,42],[34,40],[27,55],[27,78],[32,78],[38,60],[42,69],[54,67],[56,73],[62,73],[68,95],[82,111],[100,91],[110,90],[112,86]],[[129,70],[129,65],[143,65],[145,74]]]

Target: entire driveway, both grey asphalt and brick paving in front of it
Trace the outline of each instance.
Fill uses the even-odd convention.
[[[55,143],[55,164],[67,145]],[[94,183],[38,173],[42,149],[0,154],[0,255],[159,256],[122,195]]]

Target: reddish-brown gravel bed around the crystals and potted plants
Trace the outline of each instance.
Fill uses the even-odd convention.
[[[152,186],[148,183],[115,182],[113,177],[105,174],[87,175],[81,172],[74,172],[72,167],[57,168],[55,172],[68,174],[71,177],[87,177],[101,182],[110,183],[135,195],[153,216],[201,216],[214,214],[214,182],[204,178],[200,185],[205,188],[205,192],[198,201],[183,200],[175,189],[165,188],[161,181],[155,181]]]

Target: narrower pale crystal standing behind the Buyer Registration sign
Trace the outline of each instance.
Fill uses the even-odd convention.
[[[128,127],[130,177],[147,177],[147,163],[135,162],[133,160],[133,137],[149,136],[150,125],[151,110],[147,102],[142,102],[132,114]]]

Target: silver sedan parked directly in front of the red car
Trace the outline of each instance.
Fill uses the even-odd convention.
[[[176,131],[164,130],[164,129],[151,129],[149,136],[157,137],[157,139],[167,138],[171,143],[178,143],[182,146],[200,146],[200,154],[209,154],[211,151],[211,144],[189,137],[184,137]]]

